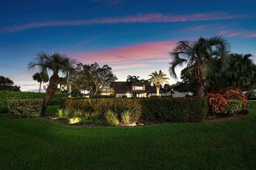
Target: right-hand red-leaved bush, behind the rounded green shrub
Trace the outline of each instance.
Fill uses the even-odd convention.
[[[223,93],[223,96],[225,99],[230,100],[230,99],[237,99],[242,101],[243,107],[246,107],[247,105],[247,100],[245,99],[245,95],[240,89],[237,88],[227,88],[225,92]]]

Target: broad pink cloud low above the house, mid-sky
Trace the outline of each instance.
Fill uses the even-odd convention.
[[[169,56],[169,52],[176,45],[176,41],[156,41],[137,45],[123,46],[94,52],[70,52],[71,57],[76,58],[79,62],[102,62],[102,63],[119,63],[134,62],[140,60],[149,60]],[[137,61],[137,62],[136,62]],[[148,62],[148,61],[146,61]]]

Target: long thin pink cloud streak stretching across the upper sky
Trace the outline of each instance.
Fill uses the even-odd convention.
[[[154,23],[154,22],[186,22],[186,21],[205,21],[205,20],[228,20],[242,18],[242,15],[231,15],[226,12],[207,12],[196,14],[162,14],[149,13],[130,15],[123,17],[109,17],[90,20],[71,20],[71,21],[43,21],[31,22],[21,25],[13,25],[0,29],[0,33],[17,32],[27,29],[40,27],[53,27],[61,25],[92,25],[92,24],[114,24],[114,23]]]

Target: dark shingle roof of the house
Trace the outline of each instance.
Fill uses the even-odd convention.
[[[142,85],[145,84],[145,90],[134,90],[137,93],[156,93],[156,88],[152,87],[149,82],[138,82],[137,85]],[[115,90],[116,94],[126,94],[127,92],[129,92],[129,88],[126,87],[125,81],[116,81],[113,85],[113,89]],[[159,93],[163,94],[165,93],[164,91],[160,90]]]

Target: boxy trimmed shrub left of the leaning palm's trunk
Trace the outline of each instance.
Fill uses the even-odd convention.
[[[42,100],[9,100],[9,113],[14,117],[39,117],[41,115]]]

